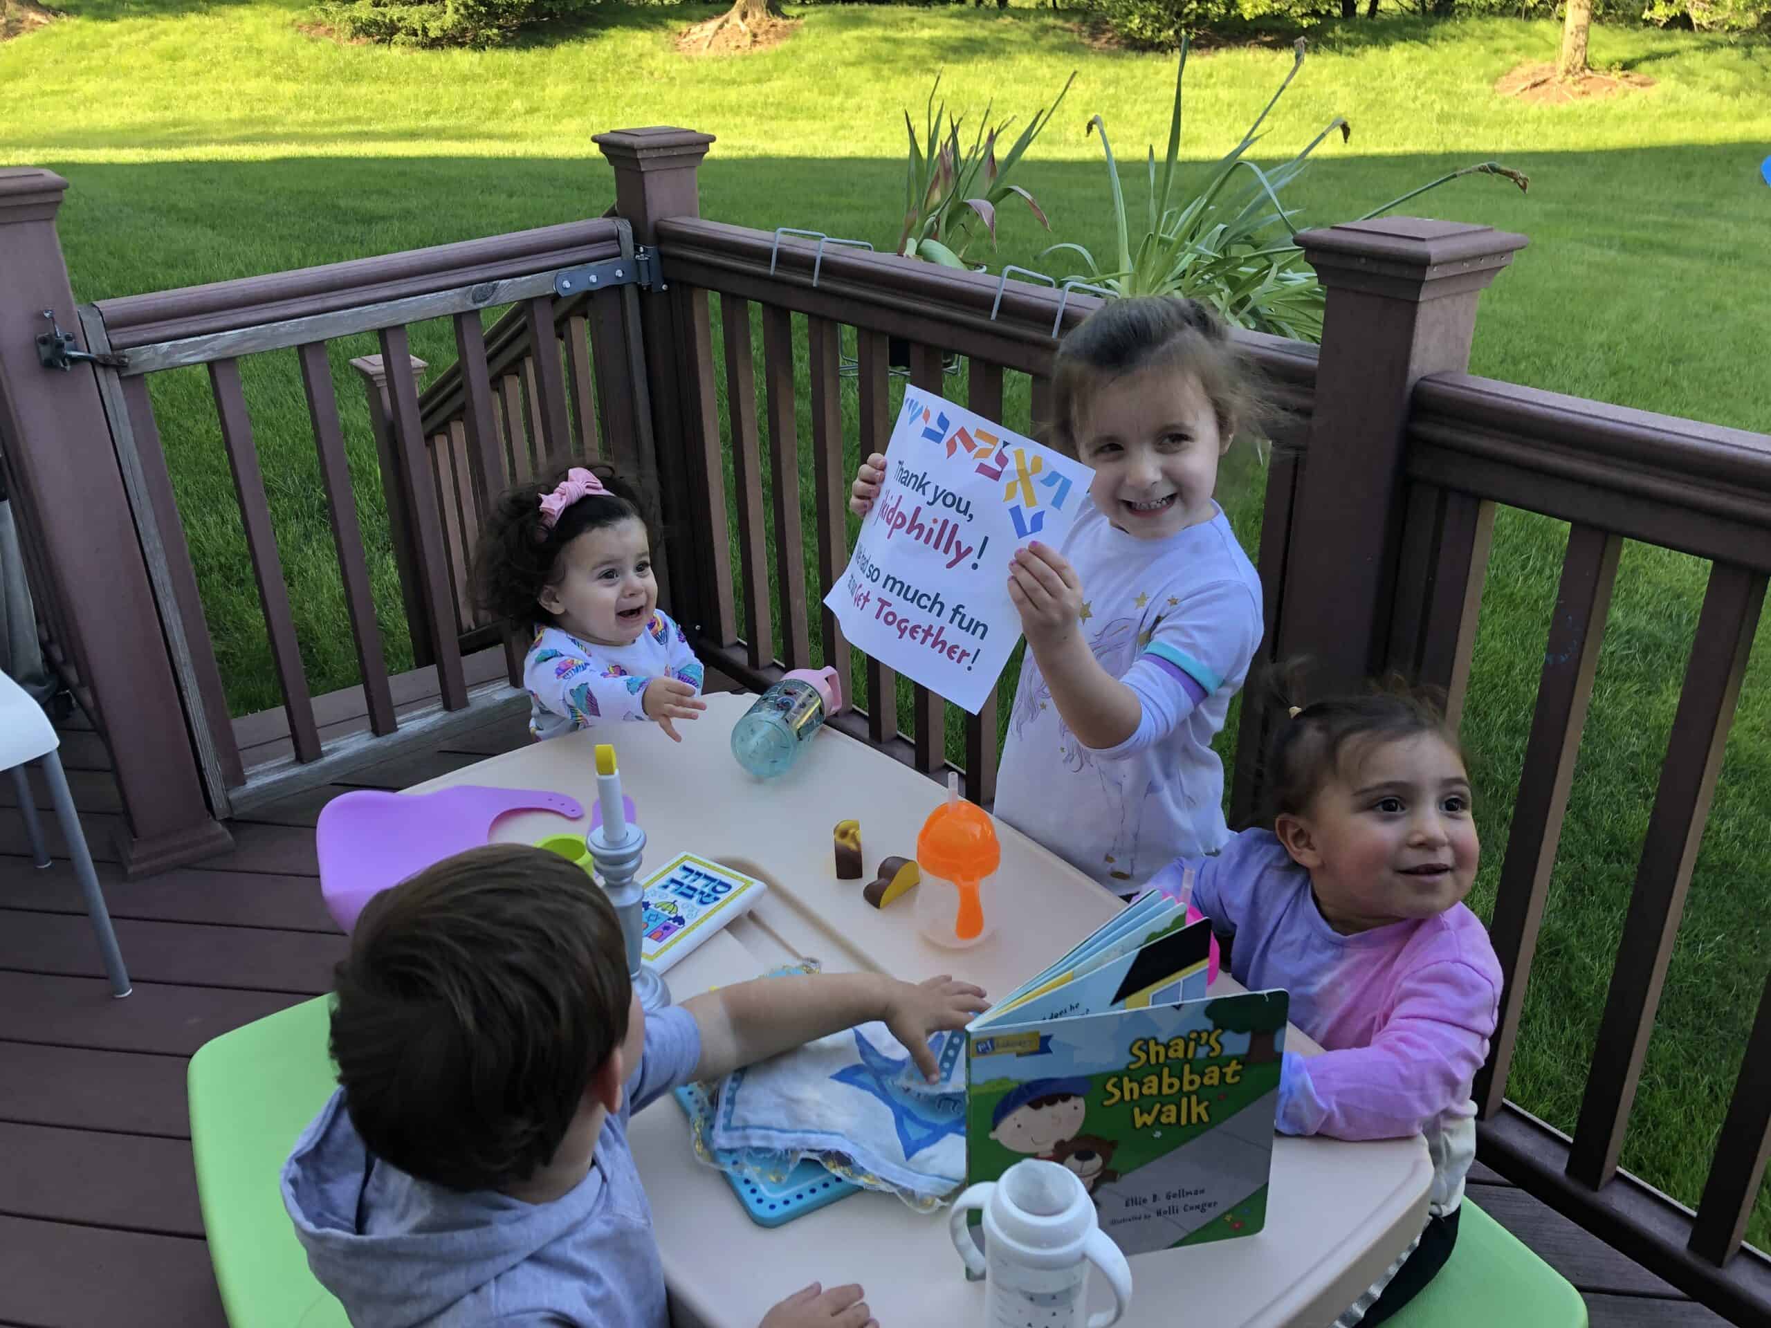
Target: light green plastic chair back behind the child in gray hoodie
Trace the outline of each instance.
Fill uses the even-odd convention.
[[[336,1087],[329,997],[225,1032],[191,1057],[191,1153],[221,1307],[232,1328],[349,1328],[308,1271],[280,1176]]]

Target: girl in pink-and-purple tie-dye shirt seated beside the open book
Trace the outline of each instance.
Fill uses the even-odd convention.
[[[1279,1130],[1396,1139],[1433,1156],[1427,1225],[1339,1324],[1378,1324],[1443,1266],[1475,1158],[1470,1085],[1500,1009],[1500,963],[1465,905],[1477,866],[1470,777],[1419,692],[1289,706],[1268,756],[1270,829],[1178,861],[1153,889],[1194,903],[1250,990],[1282,986],[1325,1052],[1286,1052]]]

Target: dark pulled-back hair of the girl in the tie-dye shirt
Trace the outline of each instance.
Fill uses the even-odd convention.
[[[1273,735],[1261,767],[1266,815],[1303,815],[1348,758],[1373,744],[1401,742],[1431,733],[1463,760],[1463,744],[1445,717],[1445,694],[1396,675],[1376,678],[1364,692],[1309,699],[1309,660],[1286,660],[1266,669],[1261,691]],[[1256,698],[1250,698],[1256,699]],[[1296,714],[1291,714],[1296,710]]]

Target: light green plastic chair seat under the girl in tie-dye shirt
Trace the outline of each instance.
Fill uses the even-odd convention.
[[[1387,1328],[1587,1328],[1587,1301],[1465,1195],[1450,1259]]]

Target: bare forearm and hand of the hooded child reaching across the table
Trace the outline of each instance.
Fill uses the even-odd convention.
[[[857,972],[756,977],[691,997],[682,1008],[701,1031],[701,1061],[692,1075],[698,1080],[719,1078],[873,1020],[884,1022],[917,1069],[933,1080],[937,1066],[928,1036],[963,1029],[985,1004],[981,988],[946,976],[914,984]]]

